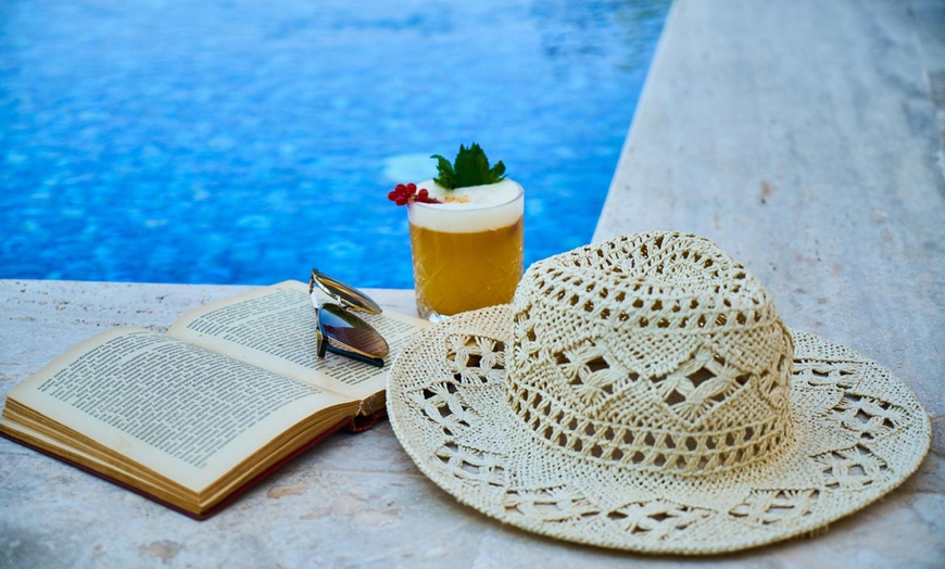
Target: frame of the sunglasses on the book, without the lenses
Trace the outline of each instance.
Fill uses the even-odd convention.
[[[322,299],[317,299],[316,301],[316,298],[313,294],[316,284],[322,292],[335,302],[325,302]],[[318,329],[315,331],[315,338],[317,340],[317,355],[319,359],[325,358],[326,352],[331,352],[373,366],[383,367],[383,359],[390,353],[387,340],[383,339],[376,328],[352,312],[356,311],[367,314],[380,314],[380,306],[374,302],[370,296],[350,284],[325,275],[317,268],[312,269],[312,276],[308,279],[308,295],[312,299],[312,304],[315,306],[315,317],[318,320]],[[336,318],[352,323],[353,326],[364,327],[374,331],[374,333],[376,333],[383,342],[386,349],[385,353],[382,355],[367,353],[352,345],[348,345],[337,338],[331,338],[331,336],[329,336],[325,330],[322,311],[330,311]]]

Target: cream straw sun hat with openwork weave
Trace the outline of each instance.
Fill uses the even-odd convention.
[[[512,305],[403,350],[387,400],[406,452],[459,502],[652,553],[810,534],[902,483],[931,433],[890,370],[788,329],[742,265],[675,232],[536,263]]]

